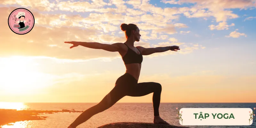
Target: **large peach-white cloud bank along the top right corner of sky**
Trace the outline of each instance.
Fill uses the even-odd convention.
[[[195,4],[194,6],[182,12],[186,17],[199,18],[213,16],[216,18],[216,22],[225,22],[227,19],[239,17],[232,11],[226,9],[247,9],[256,6],[253,0],[162,0],[161,2],[170,4],[193,3]]]

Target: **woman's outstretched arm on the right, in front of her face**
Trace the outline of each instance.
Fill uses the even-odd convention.
[[[137,47],[140,49],[142,55],[150,55],[156,52],[166,52],[169,50],[171,51],[180,50],[179,46],[166,46],[166,47],[156,47],[156,48],[144,48],[141,46],[137,46]]]

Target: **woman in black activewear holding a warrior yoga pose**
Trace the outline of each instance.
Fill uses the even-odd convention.
[[[84,46],[93,49],[103,49],[109,52],[119,52],[124,61],[126,72],[116,80],[115,87],[95,106],[85,110],[68,128],[76,128],[78,125],[90,119],[93,115],[100,113],[124,96],[140,97],[153,92],[154,123],[168,124],[159,116],[159,105],[162,86],[155,82],[138,83],[141,69],[142,55],[150,55],[156,52],[168,50],[180,50],[178,46],[144,48],[134,47],[135,41],[140,41],[140,29],[135,24],[122,24],[121,29],[125,31],[126,42],[114,44],[101,44],[97,42],[65,42],[73,44],[70,48]]]

